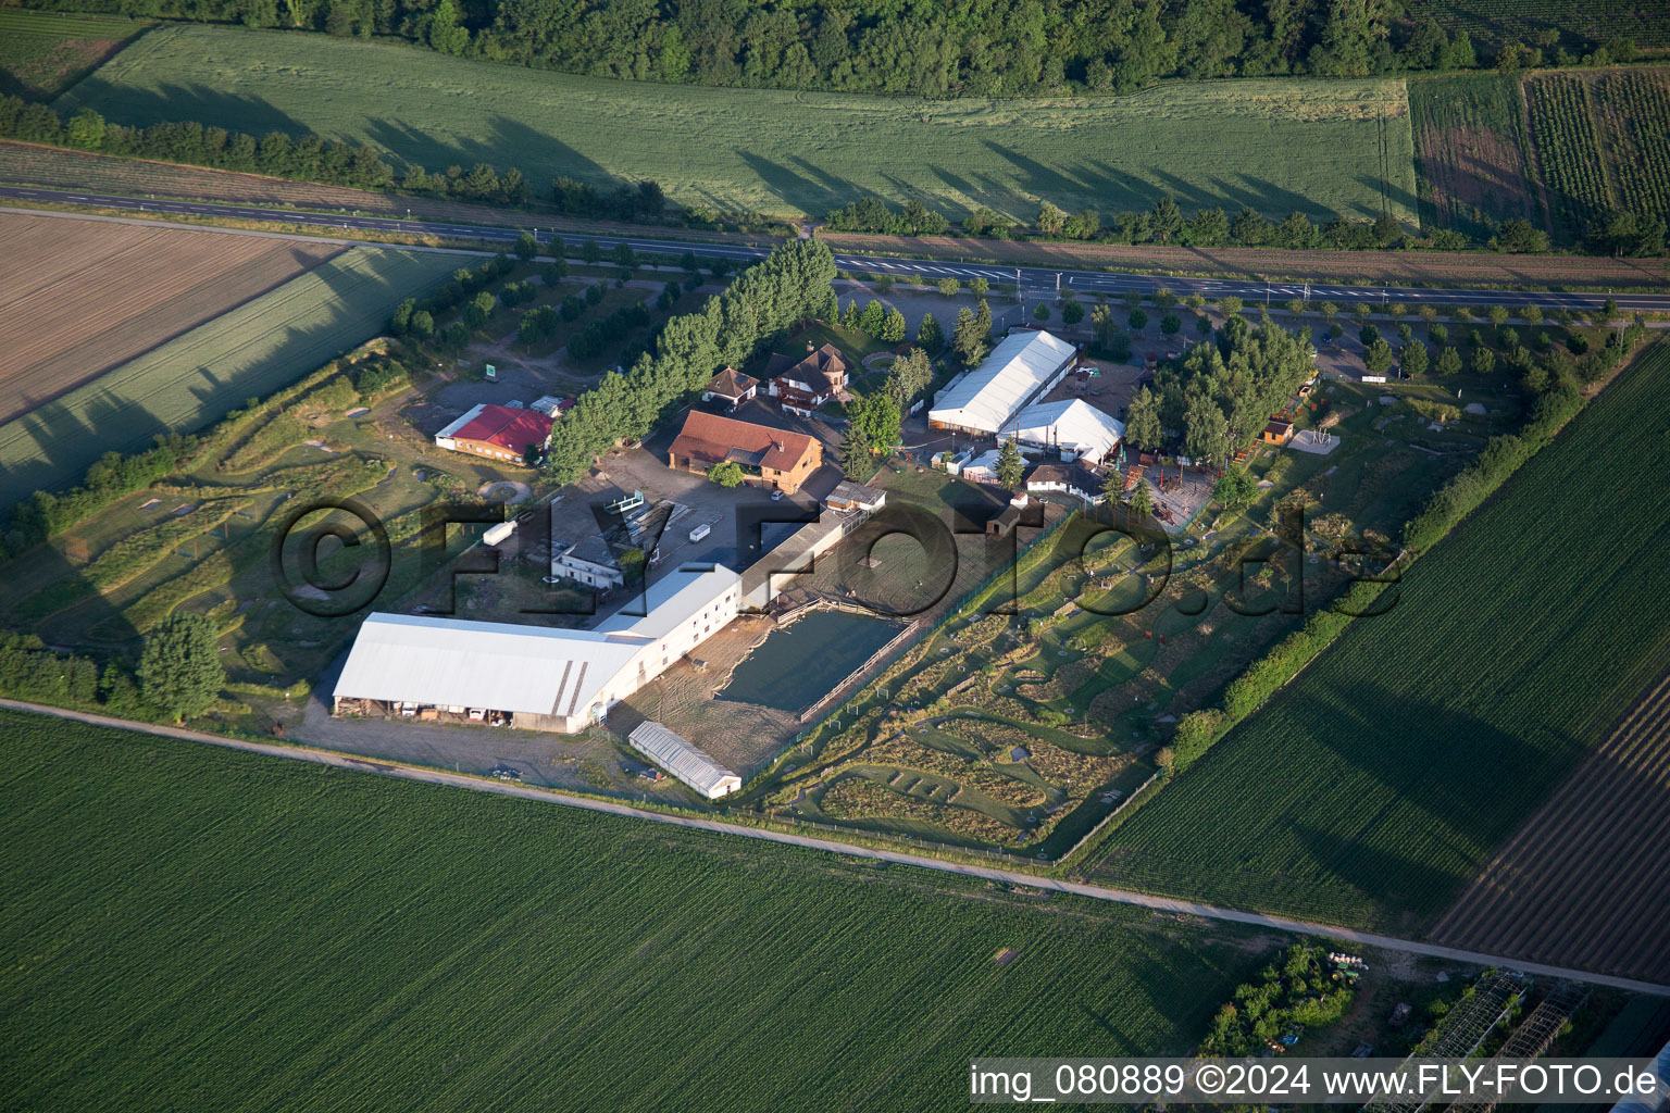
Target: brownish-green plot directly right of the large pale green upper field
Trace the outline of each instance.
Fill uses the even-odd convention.
[[[1541,205],[1525,162],[1520,82],[1498,73],[1409,82],[1421,225],[1488,239],[1521,217],[1541,227]]]

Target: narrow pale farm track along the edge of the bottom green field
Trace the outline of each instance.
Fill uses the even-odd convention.
[[[1186,916],[1201,916],[1204,919],[1219,919],[1224,923],[1247,924],[1252,928],[1271,928],[1274,931],[1288,931],[1296,934],[1319,934],[1334,939],[1348,939],[1351,943],[1361,943],[1363,946],[1381,948],[1388,951],[1403,951],[1408,954],[1425,954],[1431,958],[1443,958],[1456,963],[1470,963],[1475,966],[1510,966],[1513,969],[1523,969],[1531,975],[1543,975],[1548,978],[1566,978],[1571,981],[1583,981],[1597,986],[1612,986],[1617,990],[1628,990],[1632,993],[1650,993],[1657,996],[1670,996],[1670,986],[1655,985],[1650,981],[1637,981],[1633,978],[1617,978],[1612,975],[1597,975],[1585,969],[1566,969],[1563,966],[1548,966],[1543,963],[1526,963],[1516,958],[1503,954],[1481,954],[1478,951],[1465,951],[1453,946],[1436,946],[1431,943],[1420,943],[1414,939],[1398,939],[1393,936],[1374,934],[1369,931],[1353,931],[1349,928],[1334,928],[1329,924],[1308,923],[1304,919],[1286,919],[1283,916],[1266,916],[1263,913],[1247,913],[1236,908],[1217,908],[1214,904],[1196,904],[1192,901],[1177,901],[1166,896],[1151,896],[1147,893],[1131,893],[1127,889],[1111,889],[1099,884],[1082,884],[1075,881],[1060,881],[1055,878],[1042,878],[1030,873],[1020,873],[1015,869],[994,869],[989,866],[975,866],[955,861],[940,861],[937,858],[922,858],[918,854],[907,854],[902,851],[873,849],[868,846],[853,846],[848,843],[835,843],[830,839],[810,838],[805,834],[790,834],[787,831],[767,831],[762,828],[745,828],[733,823],[723,823],[720,819],[696,819],[691,816],[670,816],[658,811],[646,811],[641,808],[633,808],[630,804],[616,804],[611,801],[588,799],[583,796],[568,796],[566,793],[558,793],[543,788],[531,788],[526,784],[506,784],[501,781],[488,781],[483,778],[446,773],[444,769],[426,769],[421,766],[404,766],[387,761],[376,761],[369,758],[356,758],[352,754],[339,754],[329,749],[311,749],[306,746],[281,746],[271,743],[252,743],[235,738],[224,738],[220,734],[205,734],[202,731],[189,731],[174,726],[154,726],[147,723],[127,723],[124,719],[112,719],[102,714],[90,714],[85,711],[67,711],[63,708],[48,708],[43,704],[20,703],[15,699],[0,699],[0,708],[12,711],[28,711],[37,714],[55,716],[60,719],[73,719],[77,723],[90,723],[94,726],[110,726],[124,731],[139,731],[144,734],[157,734],[162,738],[177,738],[187,743],[204,743],[209,746],[224,746],[227,749],[244,749],[256,754],[267,754],[271,758],[289,758],[292,761],[311,761],[316,764],[337,766],[342,769],[357,769],[362,773],[376,773],[382,776],[397,778],[402,781],[423,781],[426,784],[444,784],[449,788],[474,789],[478,793],[498,793],[499,796],[518,796],[523,799],[534,799],[546,804],[563,804],[568,808],[584,808],[588,811],[603,811],[615,816],[626,816],[631,819],[643,819],[648,823],[668,823],[678,828],[691,828],[696,831],[711,831],[716,834],[730,834],[750,839],[762,839],[767,843],[787,843],[790,846],[803,846],[807,849],[828,851],[832,854],[848,854],[852,858],[872,858],[877,861],[893,863],[900,866],[917,866],[922,869],[939,869],[942,873],[955,873],[965,878],[985,878],[989,881],[1002,881],[1007,884],[1024,884],[1035,889],[1050,889],[1055,893],[1072,893],[1075,896],[1087,896],[1099,901],[1112,901],[1117,904],[1136,904],[1137,908],[1151,908],[1162,913],[1177,913]]]

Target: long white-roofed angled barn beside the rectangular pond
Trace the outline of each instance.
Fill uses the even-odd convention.
[[[648,614],[616,614],[593,631],[372,614],[342,666],[334,709],[377,703],[581,731],[736,617],[741,577],[726,567],[678,569],[648,597]]]

